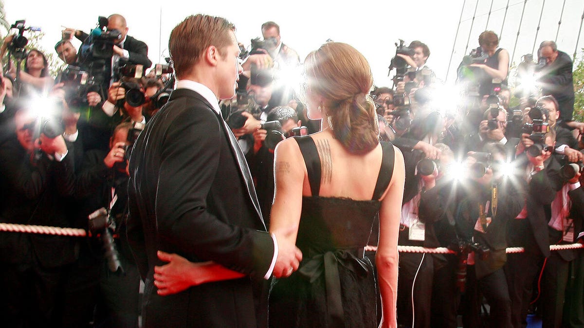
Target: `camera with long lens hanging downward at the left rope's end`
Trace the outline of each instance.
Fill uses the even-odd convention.
[[[107,268],[112,272],[121,270],[124,272],[120,262],[120,253],[117,252],[116,242],[113,239],[112,232],[116,230],[116,221],[105,208],[89,214],[88,217],[89,231],[100,235],[103,243],[103,256],[107,260]]]

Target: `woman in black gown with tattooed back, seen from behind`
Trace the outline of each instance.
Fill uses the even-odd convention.
[[[359,51],[326,43],[308,55],[304,72],[308,116],[322,120],[321,132],[286,139],[275,151],[270,232],[296,242],[303,261],[296,272],[274,272],[286,278],[273,281],[269,325],[376,327],[379,287],[382,326],[396,327],[404,159],[378,139],[375,106],[367,97],[373,77]],[[377,215],[379,284],[363,255]]]

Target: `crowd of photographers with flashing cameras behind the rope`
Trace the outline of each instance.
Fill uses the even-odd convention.
[[[55,51],[67,67],[54,81],[46,56],[25,51],[25,22],[13,28],[0,48],[9,57],[0,88],[0,222],[83,228],[91,236],[2,232],[3,320],[137,327],[127,159],[170,97],[172,66],[152,67],[146,44],[128,36],[115,14],[100,17],[89,34],[63,31]],[[273,149],[319,124],[295,97],[297,53],[281,42],[276,23],[261,32],[249,48],[240,46],[237,96],[220,105],[269,225]],[[509,53],[493,32],[478,41],[458,68],[457,92],[426,64],[430,50],[420,41],[396,44],[394,86],[371,92],[380,138],[405,158],[399,245],[456,251],[400,254],[398,323],[457,327],[462,314],[465,327],[519,328],[537,309],[543,327],[582,326],[584,252],[549,248],[582,240],[584,124],[572,120],[572,61],[544,41],[537,63],[524,56],[510,90]],[[525,252],[507,255],[511,246]]]

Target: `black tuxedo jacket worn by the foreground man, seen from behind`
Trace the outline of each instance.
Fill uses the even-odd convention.
[[[222,120],[199,93],[178,89],[135,142],[127,233],[146,284],[144,327],[267,324],[267,294],[254,299],[253,292],[263,285],[273,241],[253,186],[253,196],[246,189],[241,151],[232,148],[235,138]],[[244,277],[159,296],[153,284],[154,266],[163,264],[157,250],[213,260],[260,282]]]

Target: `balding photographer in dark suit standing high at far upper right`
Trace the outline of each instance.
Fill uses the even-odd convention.
[[[564,51],[559,51],[554,41],[543,41],[538,50],[539,59],[545,59],[537,81],[541,84],[541,94],[554,96],[558,101],[560,118],[565,123],[572,121],[574,88],[572,81],[572,60]]]

